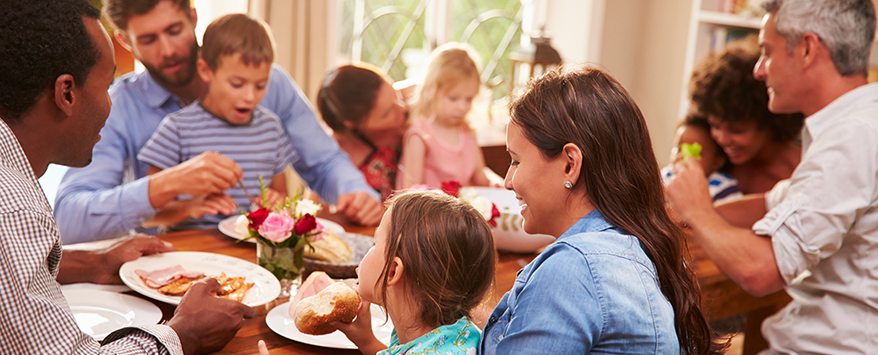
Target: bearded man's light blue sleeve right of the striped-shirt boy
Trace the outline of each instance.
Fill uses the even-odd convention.
[[[283,123],[299,156],[293,166],[296,171],[326,202],[335,203],[340,195],[359,191],[380,200],[378,192],[369,186],[350,157],[320,127],[314,110],[289,74],[277,64],[272,68],[268,93],[262,104]]]

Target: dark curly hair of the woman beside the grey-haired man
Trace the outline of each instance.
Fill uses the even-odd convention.
[[[722,51],[710,53],[692,72],[692,104],[702,115],[724,122],[755,121],[759,128],[770,130],[775,142],[796,140],[805,118],[768,110],[765,82],[753,77],[759,55],[756,35],[729,42]]]

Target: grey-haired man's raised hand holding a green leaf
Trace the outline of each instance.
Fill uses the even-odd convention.
[[[668,203],[683,222],[691,224],[698,213],[713,209],[707,178],[697,159],[678,162],[674,170],[674,178],[665,186]]]

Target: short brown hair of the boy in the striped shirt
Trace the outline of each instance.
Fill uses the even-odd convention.
[[[274,38],[268,25],[245,14],[220,17],[204,30],[201,58],[211,70],[219,66],[220,57],[241,53],[246,65],[274,62]]]

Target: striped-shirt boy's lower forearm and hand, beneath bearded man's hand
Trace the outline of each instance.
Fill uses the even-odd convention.
[[[238,204],[226,194],[210,194],[185,200],[171,201],[156,212],[155,216],[142,223],[145,228],[173,226],[190,218],[201,218],[205,215],[235,214]]]

